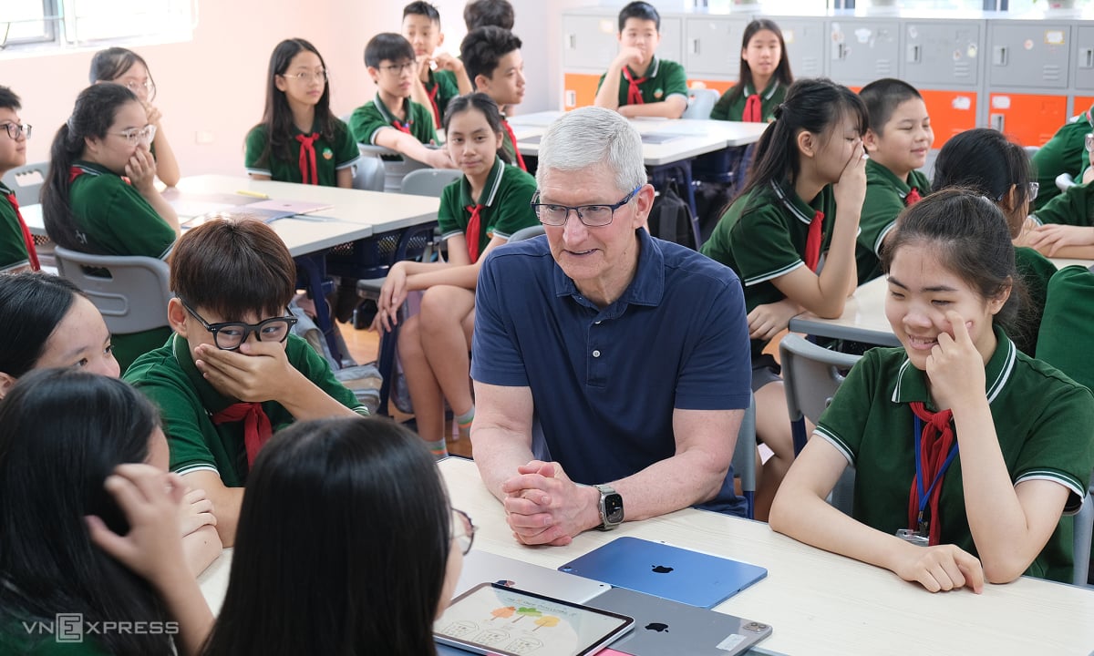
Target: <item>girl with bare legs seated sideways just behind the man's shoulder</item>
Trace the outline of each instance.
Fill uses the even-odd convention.
[[[446,262],[397,262],[380,292],[373,327],[391,330],[407,292],[421,290],[421,312],[399,330],[399,360],[414,402],[418,434],[445,455],[444,402],[461,436],[470,432],[475,401],[467,384],[479,263],[510,235],[536,225],[536,180],[505,165],[501,114],[485,93],[454,98],[444,115],[445,142],[464,177],[444,188],[438,220]]]

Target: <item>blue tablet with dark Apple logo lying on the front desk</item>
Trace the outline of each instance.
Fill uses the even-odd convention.
[[[700,608],[713,608],[767,576],[764,567],[631,537],[616,538],[559,571]]]

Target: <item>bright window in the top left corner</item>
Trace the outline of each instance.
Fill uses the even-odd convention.
[[[0,49],[188,40],[197,0],[0,0]]]

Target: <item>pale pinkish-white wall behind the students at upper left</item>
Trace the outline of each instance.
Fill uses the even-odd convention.
[[[528,77],[521,113],[561,108],[561,11],[595,0],[513,0],[514,32],[524,42]],[[331,109],[347,114],[375,93],[364,70],[364,44],[380,32],[398,32],[400,0],[199,0],[189,43],[135,46],[159,89],[155,105],[178,155],[183,175],[243,173],[243,138],[260,118],[266,67],[274,46],[303,37],[331,71]],[[466,32],[463,0],[434,0],[445,49],[457,52]],[[58,55],[0,54],[0,84],[23,98],[23,122],[34,126],[27,161],[49,159],[49,143],[88,84],[96,48]],[[198,134],[211,138],[198,143]]]

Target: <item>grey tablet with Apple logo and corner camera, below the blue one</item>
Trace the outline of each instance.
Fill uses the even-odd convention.
[[[635,630],[612,643],[612,652],[601,652],[601,656],[737,656],[771,635],[770,624],[626,588],[612,588],[587,606],[635,618]]]

